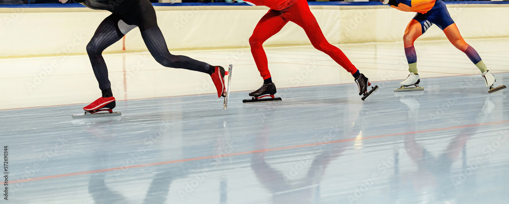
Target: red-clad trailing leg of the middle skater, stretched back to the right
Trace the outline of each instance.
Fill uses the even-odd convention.
[[[343,51],[331,45],[327,39],[325,39],[322,29],[318,25],[313,13],[309,10],[309,6],[306,1],[298,0],[296,4],[288,8],[288,11],[285,11],[284,17],[295,22],[304,29],[313,47],[329,55],[350,74],[354,75],[357,73],[357,68],[352,64]]]

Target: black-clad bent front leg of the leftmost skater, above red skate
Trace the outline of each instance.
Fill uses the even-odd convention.
[[[108,69],[102,57],[102,52],[124,36],[118,27],[119,20],[120,17],[113,14],[104,19],[87,45],[87,53],[92,63],[94,75],[97,82],[99,82],[99,88],[103,91],[103,97],[110,97],[112,94]]]

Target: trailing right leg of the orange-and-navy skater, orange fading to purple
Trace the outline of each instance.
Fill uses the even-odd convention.
[[[481,73],[484,73],[488,70],[483,60],[480,58],[477,51],[468,45],[463,37],[460,35],[460,30],[456,24],[451,24],[444,29],[445,36],[449,39],[449,42],[452,43],[456,48],[464,52],[468,58],[474,63]]]

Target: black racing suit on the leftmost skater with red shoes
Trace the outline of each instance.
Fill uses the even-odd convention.
[[[119,41],[129,30],[139,27],[143,41],[150,54],[157,62],[166,67],[182,68],[212,74],[214,71],[208,63],[187,56],[172,55],[157,26],[154,7],[149,0],[75,0],[80,4],[96,10],[107,10],[112,14],[104,19],[97,28],[94,37],[87,45],[87,53],[92,68],[103,91],[103,97],[111,94],[111,83],[102,52]]]

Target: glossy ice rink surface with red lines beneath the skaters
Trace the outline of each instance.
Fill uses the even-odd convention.
[[[467,42],[509,85],[509,39]],[[2,59],[9,202],[509,200],[509,89],[488,94],[465,54],[436,41],[416,44],[425,91],[395,94],[408,75],[402,43],[338,47],[380,86],[366,101],[311,46],[266,49],[282,101],[259,104],[241,102],[262,83],[248,48],[172,51],[234,63],[228,110],[206,75],[114,54],[105,58],[122,116],[80,120],[71,115],[100,93],[87,56]]]

